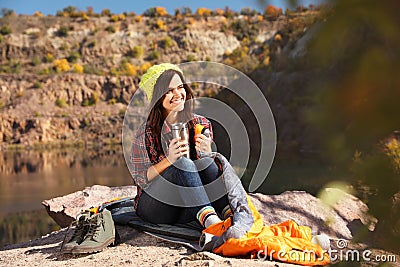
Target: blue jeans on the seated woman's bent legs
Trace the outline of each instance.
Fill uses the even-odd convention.
[[[212,158],[193,162],[182,157],[142,192],[136,212],[156,224],[194,221],[197,212],[209,205],[221,215],[229,202],[222,179],[217,179],[220,175]]]

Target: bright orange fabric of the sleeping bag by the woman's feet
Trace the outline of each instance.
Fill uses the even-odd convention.
[[[254,223],[241,238],[229,238],[213,252],[224,256],[250,255],[252,258],[279,260],[287,263],[307,266],[327,265],[328,253],[319,245],[311,242],[311,229],[299,226],[288,220],[280,224],[264,226],[263,218],[254,207],[250,198],[247,202],[251,209]],[[232,226],[232,219],[211,225],[203,231],[221,236]]]

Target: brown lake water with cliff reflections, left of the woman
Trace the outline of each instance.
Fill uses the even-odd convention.
[[[0,247],[56,228],[41,205],[45,199],[94,184],[131,184],[120,147],[6,152],[0,177]]]

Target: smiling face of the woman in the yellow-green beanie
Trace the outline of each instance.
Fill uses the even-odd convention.
[[[165,98],[162,103],[167,115],[171,111],[182,111],[184,109],[186,100],[186,91],[178,74],[172,76],[168,88],[169,91],[165,94]]]

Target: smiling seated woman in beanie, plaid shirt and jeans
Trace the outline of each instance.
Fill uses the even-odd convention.
[[[151,111],[136,133],[131,153],[138,216],[165,224],[197,220],[205,228],[229,217],[231,209],[223,191],[219,192],[222,197],[211,197],[210,201],[215,193],[210,191],[223,190],[218,179],[221,171],[212,157],[200,158],[198,154],[211,155],[212,126],[206,118],[192,113],[193,92],[182,70],[169,63],[155,65],[143,75],[139,86],[150,100]],[[189,141],[172,138],[171,125],[178,122],[187,123]],[[210,135],[195,135],[197,124],[208,128]],[[190,158],[183,157],[188,150]],[[204,186],[211,182],[213,189],[206,190]],[[176,186],[168,186],[170,183]]]

